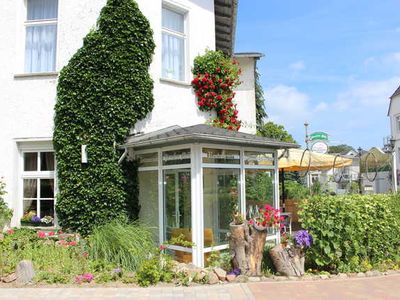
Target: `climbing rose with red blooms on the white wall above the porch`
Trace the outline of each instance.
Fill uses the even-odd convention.
[[[192,87],[201,111],[215,110],[217,116],[211,125],[229,130],[239,130],[241,121],[233,102],[235,87],[240,84],[240,67],[236,60],[221,51],[207,50],[194,60]]]

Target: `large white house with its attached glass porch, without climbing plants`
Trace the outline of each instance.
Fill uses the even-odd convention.
[[[207,48],[232,55],[237,0],[136,1],[150,21],[156,43],[150,67],[155,106],[132,129],[134,135],[126,145],[130,154],[141,156],[143,162],[141,214],[150,213],[155,222],[159,221],[160,241],[174,230],[186,234],[193,227],[191,238],[198,246],[190,259],[203,265],[203,254],[212,251],[203,244],[210,246],[217,241],[219,249],[227,247],[226,222],[230,216],[224,212],[224,205],[231,204],[218,195],[237,199],[244,212],[245,176],[254,183],[257,176],[262,176],[275,189],[268,201],[277,206],[276,149],[293,144],[252,135],[256,132],[255,62],[262,56],[258,53],[236,55],[242,68],[242,84],[235,97],[243,121],[241,133],[193,126],[204,124],[210,117],[196,106],[190,85],[193,60]],[[105,3],[2,3],[0,177],[7,185],[6,201],[14,210],[12,225],[19,225],[29,210],[40,217],[54,216],[57,163],[52,134],[58,74],[82,46],[82,39],[95,26]],[[183,128],[188,126],[193,127]],[[175,192],[169,194],[170,188]],[[223,189],[229,193],[223,194]],[[257,199],[253,202],[258,205]],[[204,212],[205,219],[199,211]],[[191,251],[181,249],[185,255]]]

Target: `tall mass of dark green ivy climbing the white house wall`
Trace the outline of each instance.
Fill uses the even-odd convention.
[[[125,179],[114,145],[124,142],[153,108],[148,68],[154,47],[138,5],[108,0],[96,29],[62,69],[54,128],[61,226],[88,234],[126,211]],[[87,145],[86,166],[81,145]]]

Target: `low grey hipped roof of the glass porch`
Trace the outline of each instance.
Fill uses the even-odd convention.
[[[253,134],[216,128],[206,124],[189,127],[173,126],[141,135],[131,135],[127,138],[125,147],[145,149],[203,142],[235,146],[265,147],[273,149],[297,148],[296,144],[280,142]]]

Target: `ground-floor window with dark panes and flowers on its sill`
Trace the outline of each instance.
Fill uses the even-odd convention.
[[[24,152],[23,215],[54,218],[54,152]],[[29,223],[30,220],[25,220]]]

